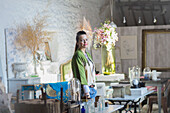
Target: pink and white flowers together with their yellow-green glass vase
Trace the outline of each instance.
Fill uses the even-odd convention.
[[[115,73],[114,51],[116,41],[118,41],[118,34],[114,27],[110,25],[110,21],[105,21],[100,28],[94,30],[94,48],[102,46],[105,52],[102,52],[102,72],[103,74]],[[102,49],[103,50],[103,49]]]

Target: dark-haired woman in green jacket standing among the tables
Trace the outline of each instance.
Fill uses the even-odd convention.
[[[94,98],[96,90],[95,66],[90,54],[86,51],[88,38],[86,32],[79,31],[76,36],[75,53],[72,58],[72,70],[75,78],[78,78],[82,86],[82,94],[88,98]]]

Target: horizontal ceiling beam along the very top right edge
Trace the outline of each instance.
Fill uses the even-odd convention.
[[[122,1],[119,6],[170,5],[170,1]]]

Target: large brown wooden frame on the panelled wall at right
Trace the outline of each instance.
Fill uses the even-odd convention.
[[[170,30],[150,29],[142,31],[142,69],[170,70]]]

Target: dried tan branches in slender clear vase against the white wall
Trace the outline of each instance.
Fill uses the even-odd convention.
[[[23,24],[16,26],[17,36],[15,45],[17,49],[26,47],[31,51],[34,61],[34,73],[37,74],[36,69],[36,52],[41,45],[51,40],[52,32],[46,30],[48,27],[47,16],[40,16],[37,14],[31,22],[26,21]]]

